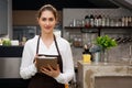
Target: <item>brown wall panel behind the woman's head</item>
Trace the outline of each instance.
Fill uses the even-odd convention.
[[[35,10],[14,10],[13,25],[37,25],[37,11]],[[62,23],[62,12],[58,11],[58,22]]]

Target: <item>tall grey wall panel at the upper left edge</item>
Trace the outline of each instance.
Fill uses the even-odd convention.
[[[4,12],[1,12],[2,16],[0,28],[3,31],[0,31],[0,33],[3,33],[2,35],[0,35],[0,37],[12,37],[12,0],[4,0],[4,2],[7,3],[7,8],[2,9],[6,12],[6,14]]]

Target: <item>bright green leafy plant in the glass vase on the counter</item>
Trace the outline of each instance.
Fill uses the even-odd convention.
[[[99,45],[102,50],[108,50],[118,45],[118,43],[108,35],[98,36],[96,38],[96,44]]]

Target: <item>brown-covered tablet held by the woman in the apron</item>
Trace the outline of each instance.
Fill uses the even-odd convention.
[[[36,58],[36,68],[40,72],[41,67],[48,68],[47,66],[51,65],[54,69],[57,67],[57,57],[37,57]]]

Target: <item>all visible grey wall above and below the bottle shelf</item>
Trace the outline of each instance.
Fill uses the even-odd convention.
[[[129,16],[132,15],[132,13],[123,8],[119,8],[119,9],[64,9],[63,10],[63,36],[65,38],[67,38],[67,35],[70,32],[76,32],[76,33],[80,33],[79,30],[70,30],[70,32],[68,30],[65,29],[65,26],[69,26],[69,24],[73,22],[74,19],[76,20],[84,20],[85,15],[87,14],[102,14],[102,15],[109,15],[110,18],[121,18],[121,16]],[[127,30],[127,29],[110,29],[110,30],[101,30],[101,35],[103,34],[108,34],[110,36],[118,36],[118,35],[127,35],[130,34],[130,36],[132,36],[132,31]],[[84,34],[82,34],[84,35]],[[127,44],[120,44],[118,47],[111,50],[109,52],[109,61],[111,62],[117,62],[120,58],[121,59],[129,59],[130,58],[130,45],[131,43],[127,43]],[[74,59],[75,62],[77,62],[78,59],[81,59],[81,53],[82,53],[82,48],[76,48],[74,46],[72,46],[73,48],[73,55],[74,55]],[[120,52],[122,51],[122,52]],[[76,63],[75,63],[76,64]]]

